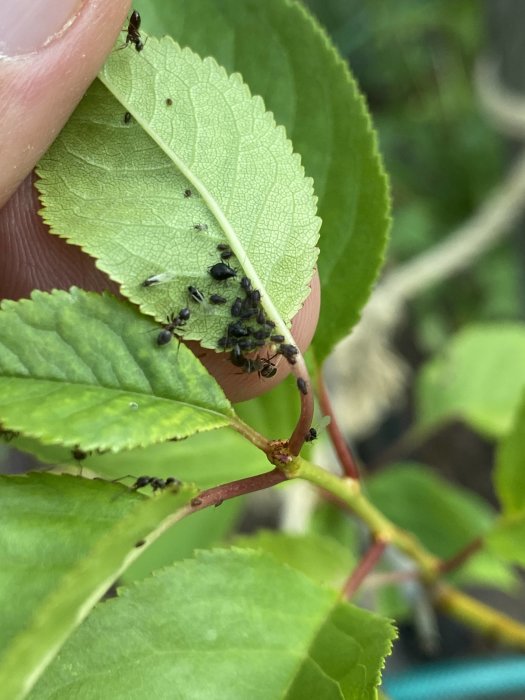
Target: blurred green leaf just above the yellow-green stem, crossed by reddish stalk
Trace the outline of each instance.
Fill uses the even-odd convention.
[[[396,525],[413,532],[443,559],[457,554],[495,522],[491,507],[476,494],[452,485],[421,464],[389,467],[367,482],[372,502]],[[454,574],[462,583],[510,589],[512,571],[490,552],[473,555]]]

